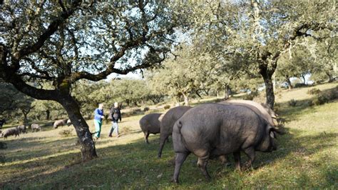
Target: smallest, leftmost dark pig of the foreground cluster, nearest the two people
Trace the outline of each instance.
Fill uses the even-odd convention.
[[[140,119],[140,128],[144,133],[144,139],[149,144],[149,134],[160,133],[160,116],[162,114],[147,114]]]

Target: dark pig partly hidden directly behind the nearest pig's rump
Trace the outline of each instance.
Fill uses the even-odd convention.
[[[173,126],[175,122],[191,108],[192,107],[190,106],[177,106],[164,114],[162,121],[160,122],[160,149],[158,150],[158,158],[162,156],[162,150],[165,141],[169,136],[171,136],[171,134],[173,134]]]

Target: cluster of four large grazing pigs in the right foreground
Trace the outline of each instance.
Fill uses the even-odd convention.
[[[247,169],[255,161],[255,151],[270,152],[277,149],[277,114],[255,101],[232,100],[200,106],[178,106],[165,114],[147,114],[140,119],[140,128],[148,143],[149,134],[160,133],[158,157],[168,136],[173,136],[175,171],[173,181],[178,183],[180,167],[190,153],[198,156],[198,167],[210,179],[206,168],[209,159],[227,162],[233,154],[235,168]],[[243,151],[249,161],[240,163]]]

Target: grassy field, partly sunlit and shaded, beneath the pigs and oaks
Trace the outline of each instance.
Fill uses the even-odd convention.
[[[322,84],[324,91],[337,86]],[[143,141],[140,116],[123,118],[123,136],[108,138],[109,124],[103,125],[102,138],[96,142],[98,159],[81,163],[76,136],[59,134],[64,126],[23,134],[5,140],[8,149],[0,164],[1,189],[338,189],[338,101],[320,106],[289,106],[291,99],[302,103],[312,99],[313,87],[279,91],[279,114],[285,119],[287,134],[277,139],[278,150],[258,153],[250,171],[235,171],[219,161],[210,161],[211,181],[205,181],[190,155],[183,164],[180,184],[170,182],[173,175],[173,149],[166,144],[163,158],[157,158],[159,136]],[[212,101],[208,99],[205,101]],[[203,101],[200,101],[202,103]],[[195,102],[197,104],[197,102]],[[160,110],[164,111],[164,110]],[[88,124],[93,127],[92,121]],[[93,131],[93,128],[91,129]],[[245,156],[242,156],[244,160]]]

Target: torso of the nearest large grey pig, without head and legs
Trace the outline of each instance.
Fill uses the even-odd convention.
[[[196,155],[212,149],[229,154],[245,141],[261,138],[260,116],[240,105],[203,104],[187,111],[178,122],[186,148]]]

